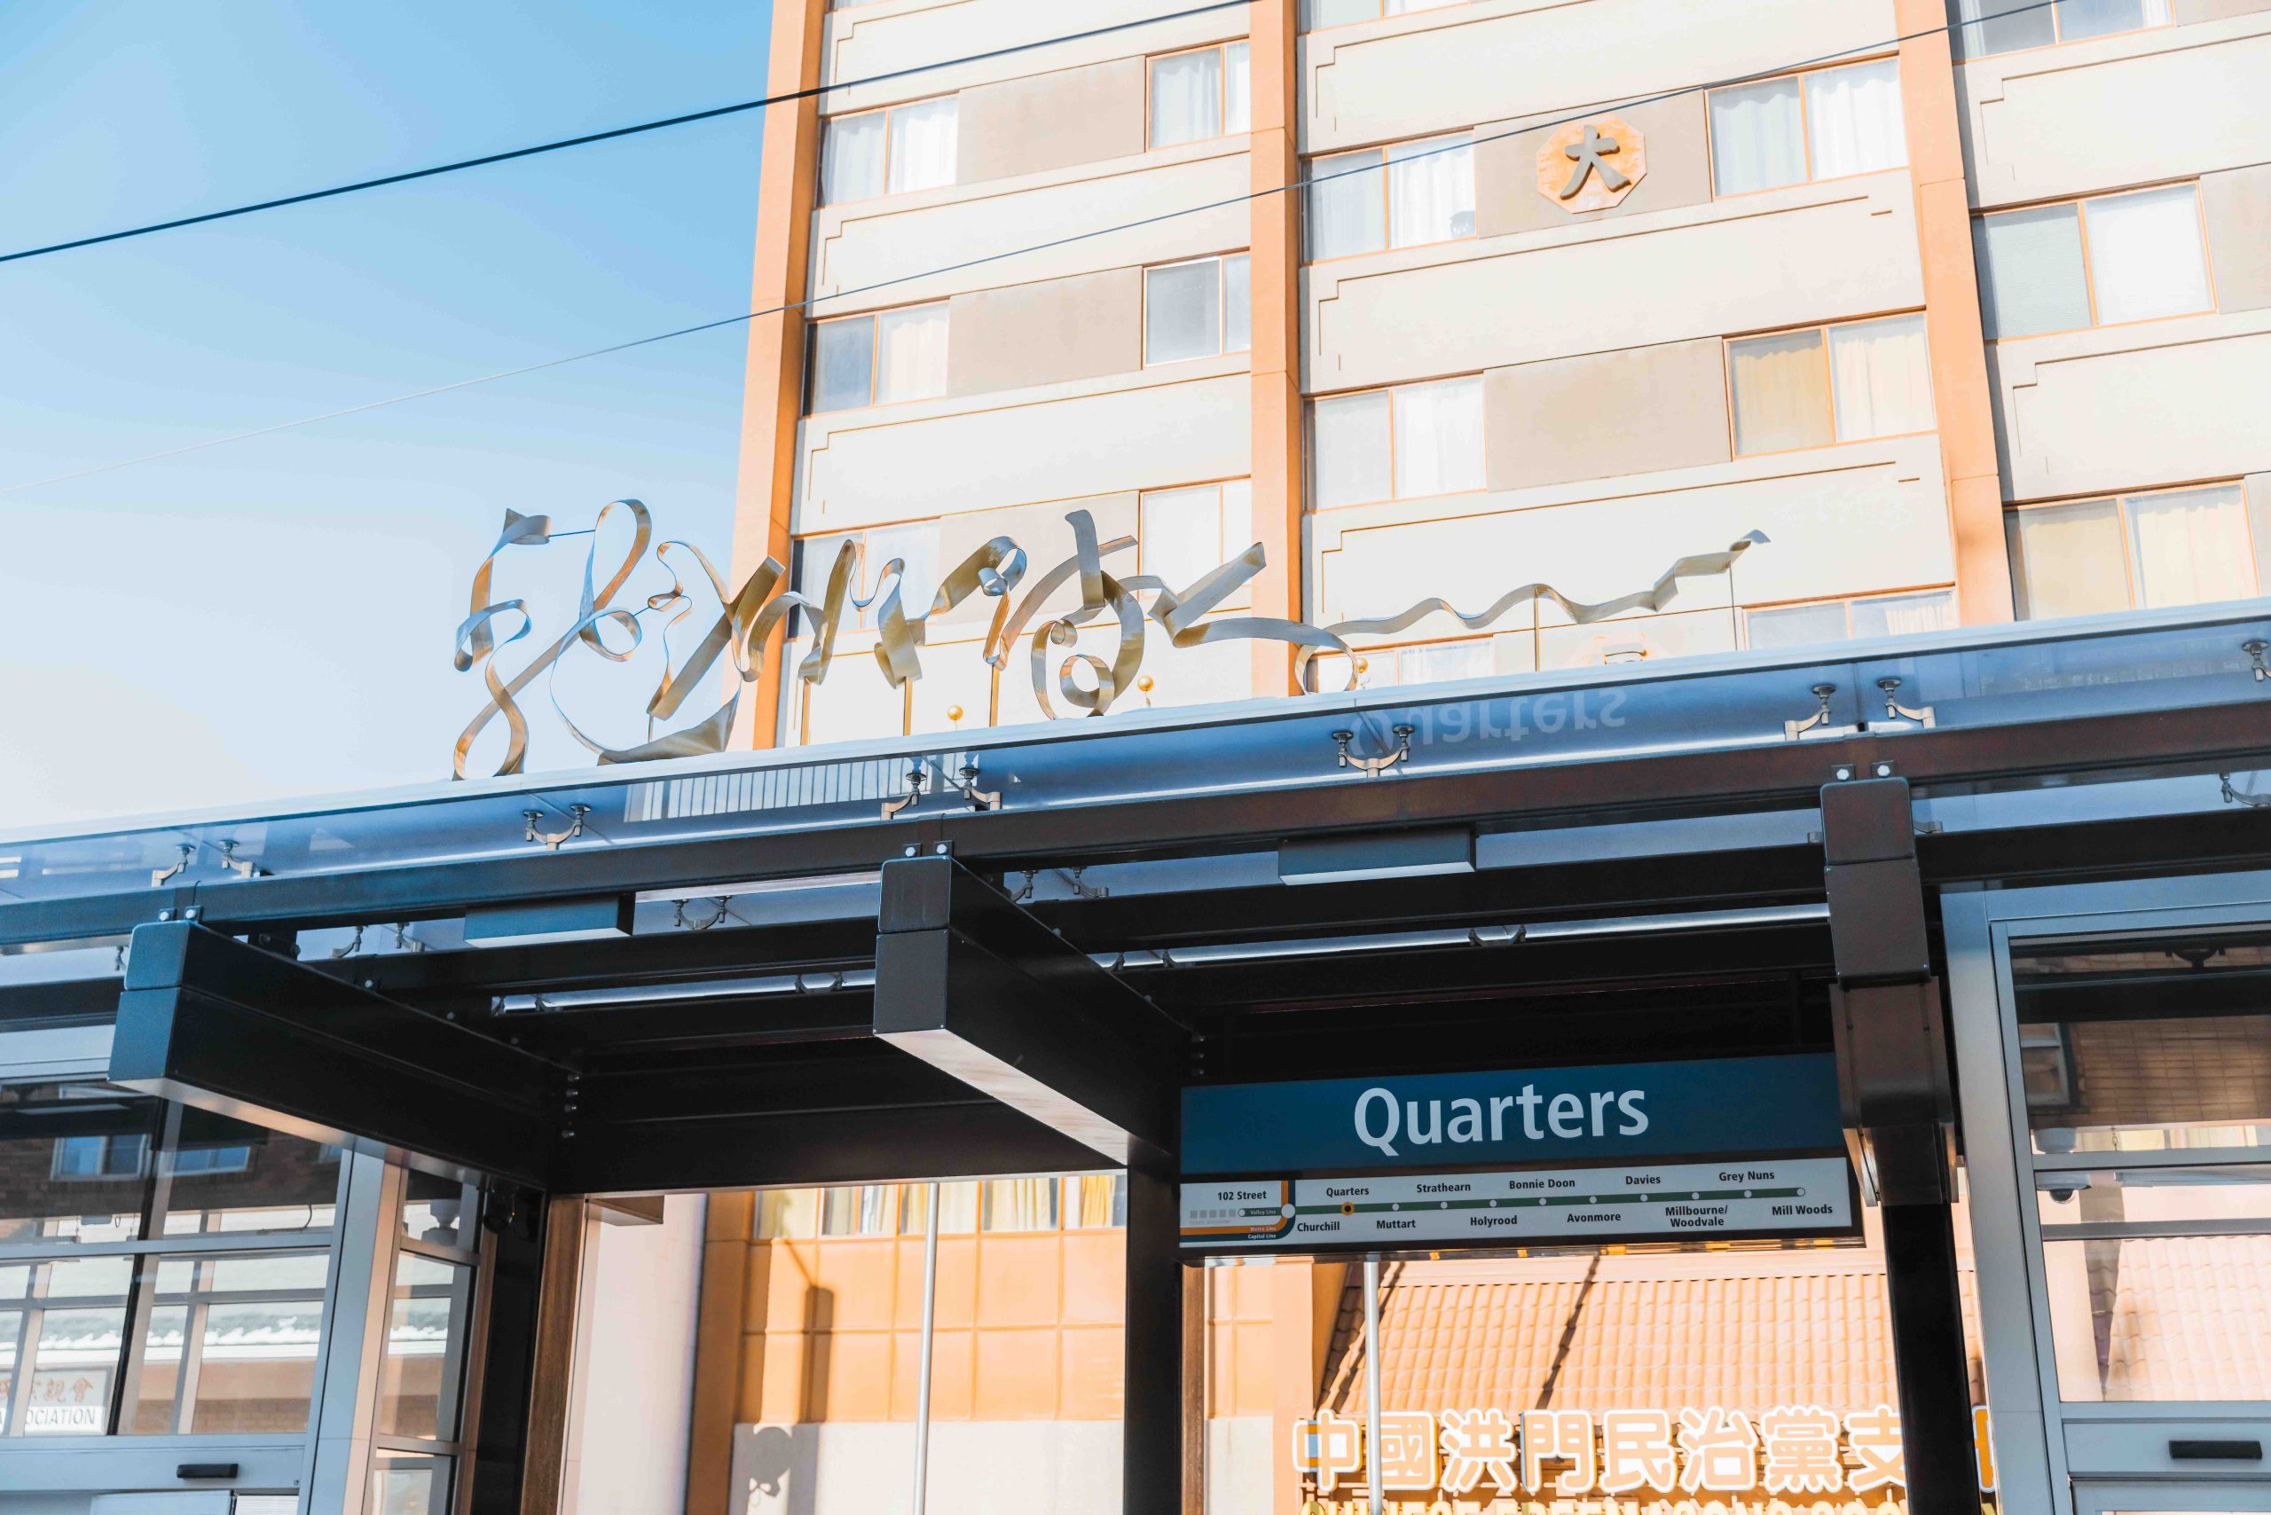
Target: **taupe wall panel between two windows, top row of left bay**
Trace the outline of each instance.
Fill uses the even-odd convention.
[[[961,93],[963,184],[1101,164],[1145,150],[1145,61],[1061,68]]]

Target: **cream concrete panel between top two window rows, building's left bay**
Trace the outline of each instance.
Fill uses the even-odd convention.
[[[1233,136],[1151,152],[1115,164],[1104,175],[1095,168],[1056,168],[977,189],[933,189],[822,207],[813,218],[813,293],[827,298],[840,291],[868,291],[820,307],[822,316],[836,316],[974,288],[1229,252],[1251,238],[1251,211],[1240,200],[1245,193],[1245,139]],[[1215,209],[1133,232],[1083,236],[1201,204]],[[929,273],[1065,236],[1081,241],[942,275]],[[883,288],[870,288],[877,284]]]

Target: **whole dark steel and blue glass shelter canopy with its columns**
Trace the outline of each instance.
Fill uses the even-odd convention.
[[[1160,1510],[1183,1090],[1835,1049],[1903,1401],[1944,1390],[1908,1404],[1910,1467],[1953,1470],[1914,1497],[1960,1508],[1928,904],[2271,856],[2264,625],[1969,629],[5,836],[0,1031],[116,1022],[114,1083],[527,1195],[1124,1165],[1124,1488]],[[491,1324],[493,1358],[527,1349]]]

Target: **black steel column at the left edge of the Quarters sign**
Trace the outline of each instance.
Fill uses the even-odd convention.
[[[1174,1165],[1129,1163],[1122,1515],[1183,1515],[1183,1261]]]

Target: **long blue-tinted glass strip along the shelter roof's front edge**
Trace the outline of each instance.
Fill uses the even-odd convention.
[[[1765,747],[1846,736],[1862,722],[1871,736],[1899,734],[1919,729],[1919,715],[1949,729],[2205,709],[2271,697],[2260,643],[2255,652],[2246,647],[2266,625],[2264,602],[2196,606],[1347,695],[1115,711],[1099,720],[963,731],[945,738],[954,745],[940,745],[933,734],[729,752],[16,831],[0,834],[0,906],[152,884],[525,856],[545,845],[531,840],[531,831],[556,836],[577,820],[581,829],[563,847],[872,825],[883,802],[906,795],[917,765],[929,793],[915,813],[961,809],[947,790],[963,784],[999,795],[1004,811],[1026,811],[1360,781],[1338,759],[1340,731],[1349,734],[1351,756],[1378,759],[1397,750],[1397,729],[1410,727],[1410,756],[1392,775],[1451,775]],[[977,772],[965,777],[965,768]],[[2207,784],[2212,788],[2214,779]]]

